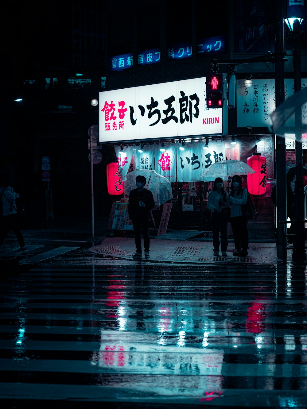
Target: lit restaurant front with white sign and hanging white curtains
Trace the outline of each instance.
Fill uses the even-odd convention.
[[[210,231],[207,198],[212,182],[205,182],[201,175],[216,162],[226,158],[246,162],[258,152],[266,159],[264,187],[266,180],[274,180],[273,135],[229,135],[228,109],[206,108],[205,80],[99,94],[99,142],[113,144],[118,173],[124,177],[135,169],[152,169],[171,182],[169,229]],[[246,175],[242,178],[247,187]],[[120,200],[125,196],[122,184],[115,183],[119,189],[115,200]],[[230,183],[224,185],[228,190]],[[258,217],[249,224],[251,237],[274,238],[271,184],[267,186],[263,194],[252,197]],[[153,211],[156,225],[162,212],[163,205]]]

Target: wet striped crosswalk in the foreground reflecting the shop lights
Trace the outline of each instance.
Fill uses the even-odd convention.
[[[306,277],[292,265],[33,269],[2,283],[1,398],[306,408]]]

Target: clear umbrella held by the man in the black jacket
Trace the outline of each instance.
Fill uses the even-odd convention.
[[[136,189],[135,178],[138,175],[142,175],[147,180],[146,189],[149,189],[153,194],[153,199],[156,205],[162,205],[167,200],[172,199],[172,185],[165,178],[165,176],[159,175],[156,171],[148,171],[145,169],[136,169],[122,178],[124,182],[124,192],[129,195],[132,189]]]

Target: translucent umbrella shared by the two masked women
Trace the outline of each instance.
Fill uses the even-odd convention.
[[[255,171],[241,160],[226,159],[210,165],[201,174],[201,178],[204,178],[206,182],[211,182],[216,178],[228,180],[233,175],[246,175],[247,173],[255,173]]]

